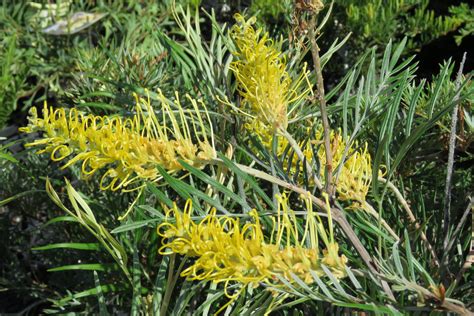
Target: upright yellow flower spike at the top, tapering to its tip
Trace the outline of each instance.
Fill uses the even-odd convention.
[[[303,82],[308,82],[306,69],[293,82],[286,71],[284,56],[267,33],[255,30],[255,18],[245,20],[237,14],[237,23],[231,36],[237,46],[236,58],[230,69],[234,73],[238,91],[247,114],[246,128],[255,132],[262,142],[269,145],[277,128],[288,125],[288,105],[311,91],[310,87],[298,93]],[[308,86],[310,84],[308,83]]]

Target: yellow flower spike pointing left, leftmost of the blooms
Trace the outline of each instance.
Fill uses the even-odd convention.
[[[28,126],[20,130],[43,132],[41,139],[26,146],[42,147],[38,153],[50,153],[53,161],[69,158],[62,168],[81,161],[85,177],[106,169],[100,180],[102,190],[125,189],[143,180],[155,181],[160,177],[156,165],[175,172],[182,169],[178,159],[201,167],[214,158],[212,130],[208,137],[200,114],[200,111],[207,114],[204,104],[188,96],[193,111],[185,114],[176,94],[176,115],[161,91],[158,95],[163,113],[161,122],[149,97],[135,96],[136,113],[131,118],[85,115],[75,108],[53,109],[45,103],[43,117],[38,117],[36,108],[32,108]]]

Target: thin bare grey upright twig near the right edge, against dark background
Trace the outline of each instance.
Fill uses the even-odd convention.
[[[443,235],[444,235],[444,242],[443,247],[444,249],[447,248],[449,243],[449,224],[450,224],[450,217],[451,217],[451,184],[452,184],[452,177],[454,171],[454,150],[456,148],[456,125],[458,122],[458,111],[459,111],[459,87],[461,86],[461,77],[462,72],[464,69],[464,62],[466,61],[466,53],[464,53],[462,57],[461,64],[459,65],[458,74],[456,77],[456,96],[455,96],[455,106],[453,108],[453,114],[451,116],[451,133],[449,134],[449,151],[448,151],[448,167],[446,172],[446,187],[444,190],[444,221],[443,221]]]

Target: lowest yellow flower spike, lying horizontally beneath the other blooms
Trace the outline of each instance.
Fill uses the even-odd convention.
[[[235,298],[235,295],[227,292],[229,284],[238,283],[242,289],[249,284],[257,287],[260,283],[283,286],[279,277],[292,283],[292,273],[310,284],[314,281],[310,271],[324,274],[321,263],[327,265],[336,277],[345,276],[347,258],[338,254],[332,220],[329,220],[329,232],[326,232],[321,218],[313,212],[311,202],[305,199],[306,224],[301,234],[287,197],[277,196],[277,200],[278,213],[273,218],[274,227],[269,240],[264,236],[255,210],[249,213],[252,221],[241,226],[238,218],[218,216],[215,209],[195,223],[191,219],[193,208],[190,200],[183,212],[174,205],[167,211],[165,222],[158,226],[158,234],[163,237],[159,251],[164,255],[178,253],[195,257],[194,264],[181,275],[190,280],[224,282],[230,298]],[[327,248],[322,254],[318,235]]]

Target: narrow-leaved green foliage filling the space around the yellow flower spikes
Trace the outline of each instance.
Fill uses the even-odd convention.
[[[80,166],[59,169],[45,155],[18,150],[16,135],[8,139],[11,143],[0,147],[0,293],[5,293],[0,312],[26,307],[26,312],[39,314],[209,315],[223,307],[232,315],[308,311],[400,315],[446,310],[446,304],[471,308],[472,269],[462,267],[471,243],[470,223],[463,214],[472,207],[466,198],[474,186],[472,78],[467,74],[456,84],[459,65],[448,60],[433,78],[419,80],[414,58],[405,58],[458,28],[461,41],[472,32],[469,7],[462,4],[450,9],[451,16],[435,17],[428,1],[334,4],[334,18],[327,20],[323,36],[333,30],[343,36],[326,40],[321,63],[325,71],[332,69],[344,51],[351,54],[347,59],[351,62],[327,89],[329,120],[347,144],[369,144],[373,170],[367,201],[376,216],[334,200],[332,207],[343,214],[334,213],[334,226],[340,251],[349,262],[345,278],[336,278],[325,266],[321,275],[311,274],[310,284],[295,274],[290,275],[293,282],[276,275],[281,287],[249,286],[225,306],[229,298],[222,284],[180,276],[193,258],[159,254],[156,227],[170,220],[165,212],[173,203],[182,208],[191,199],[195,221],[215,208],[218,216],[239,218],[245,224],[251,220],[249,211],[256,209],[270,235],[279,211],[275,196],[293,192],[290,204],[299,218],[297,230],[303,233],[300,215],[306,216],[307,209],[298,196],[321,198],[308,170],[309,166],[319,174],[321,168],[316,153],[323,145],[314,141],[321,112],[314,96],[290,109],[288,131],[301,148],[310,144],[311,159],[301,159],[290,145],[282,154],[277,137],[273,148],[265,147],[226,104],[237,107],[241,102],[229,70],[235,46],[228,26],[219,22],[218,14],[196,10],[199,1],[183,1],[190,6],[177,8],[171,2],[62,1],[61,7],[49,11],[25,2],[0,8],[3,122],[16,108],[25,111],[43,99],[53,106],[128,116],[134,92],[143,95],[150,90],[154,103],[154,91],[160,88],[165,95],[178,91],[205,101],[218,151],[218,158],[204,169],[179,161],[183,171],[170,175],[157,166],[160,180],[146,184],[140,193],[101,192],[97,177],[81,179]],[[291,10],[288,1],[276,5],[255,1],[250,7],[250,12],[259,12],[259,19],[263,15],[286,21]],[[78,11],[107,15],[77,34],[41,32]],[[47,13],[43,19],[41,12]],[[346,30],[353,32],[351,38]],[[288,36],[284,28],[279,31]],[[290,77],[296,78],[310,60],[308,47],[288,40],[281,49]],[[314,84],[316,77],[310,75],[308,80]],[[440,219],[446,198],[447,138],[456,104],[462,114],[446,246]],[[162,113],[157,114],[160,118]],[[326,210],[317,204],[315,210],[327,223]],[[348,226],[373,266],[364,261]],[[434,263],[433,252],[442,268]],[[446,295],[441,295],[441,284]],[[10,301],[17,305],[7,305]]]

